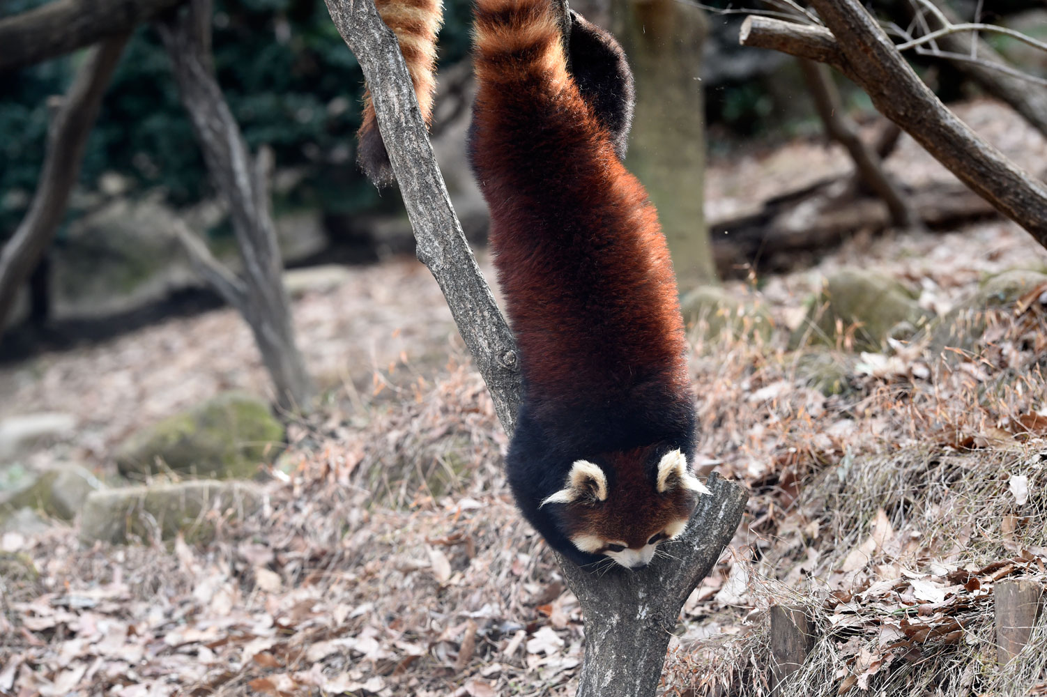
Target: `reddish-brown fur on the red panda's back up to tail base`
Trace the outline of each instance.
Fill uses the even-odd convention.
[[[505,14],[509,27],[490,19]],[[476,35],[473,157],[531,391],[588,403],[638,377],[688,389],[656,212],[570,80],[548,0],[481,0]],[[514,125],[532,118],[540,130]]]

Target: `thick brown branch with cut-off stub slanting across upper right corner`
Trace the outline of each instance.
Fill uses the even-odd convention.
[[[949,111],[898,53],[859,0],[811,0],[828,28],[749,17],[743,46],[775,48],[828,63],[935,159],[1047,247],[1047,186],[1008,160]]]

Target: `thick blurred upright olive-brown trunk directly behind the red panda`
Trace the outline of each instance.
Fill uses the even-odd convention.
[[[682,291],[715,283],[703,209],[705,13],[675,0],[617,0],[616,33],[636,74],[637,109],[626,166],[643,182]]]

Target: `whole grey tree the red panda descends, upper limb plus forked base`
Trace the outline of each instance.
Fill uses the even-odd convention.
[[[327,0],[335,26],[363,68],[378,126],[418,241],[487,382],[506,432],[519,403],[515,341],[484,280],[450,205],[396,38],[366,0]],[[713,475],[681,540],[634,572],[602,577],[560,559],[585,617],[587,648],[578,694],[645,697],[658,687],[669,630],[691,590],[709,574],[741,520],[749,494]]]

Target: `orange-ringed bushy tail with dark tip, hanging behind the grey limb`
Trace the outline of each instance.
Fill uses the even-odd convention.
[[[366,1],[366,0],[364,0]],[[441,0],[375,0],[385,25],[400,42],[400,52],[415,84],[415,94],[425,125],[432,119],[432,95],[437,89],[437,31],[443,23]],[[357,159],[376,186],[393,183],[388,152],[378,132],[370,90],[363,95],[363,122],[357,132]]]

